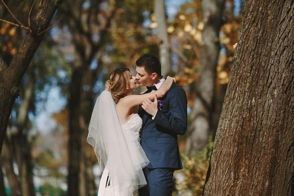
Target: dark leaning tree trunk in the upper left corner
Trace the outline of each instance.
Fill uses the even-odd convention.
[[[40,1],[40,7],[35,18],[38,26],[37,33],[46,30],[61,1]],[[9,66],[3,61],[0,51],[0,152],[6,135],[12,105],[15,98],[19,96],[18,86],[43,37],[44,33],[36,35],[36,33],[28,32]]]

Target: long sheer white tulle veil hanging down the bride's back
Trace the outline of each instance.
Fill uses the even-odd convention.
[[[104,90],[93,109],[87,142],[94,148],[101,170],[108,168],[110,180],[119,187],[131,184],[140,188],[147,184],[142,169],[149,161],[139,142],[128,136],[125,123],[111,93]]]

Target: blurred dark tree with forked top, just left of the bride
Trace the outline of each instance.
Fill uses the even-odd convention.
[[[69,88],[69,195],[94,196],[96,187],[91,161],[91,147],[86,139],[94,104],[93,86],[105,40],[116,13],[116,3],[110,1],[67,1],[64,8],[70,33],[73,35],[74,62]],[[106,8],[105,5],[107,6]]]

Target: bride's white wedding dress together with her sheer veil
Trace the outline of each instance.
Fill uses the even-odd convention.
[[[149,160],[140,145],[141,129],[140,116],[124,120],[109,91],[97,98],[87,142],[103,171],[98,196],[136,196],[147,184],[143,168]]]

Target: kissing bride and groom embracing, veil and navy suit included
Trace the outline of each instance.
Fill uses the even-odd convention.
[[[103,171],[98,196],[172,196],[173,172],[183,168],[177,135],[187,131],[185,91],[161,75],[154,54],[141,56],[136,72],[110,73],[93,109],[87,142]],[[134,95],[139,86],[146,92]]]

